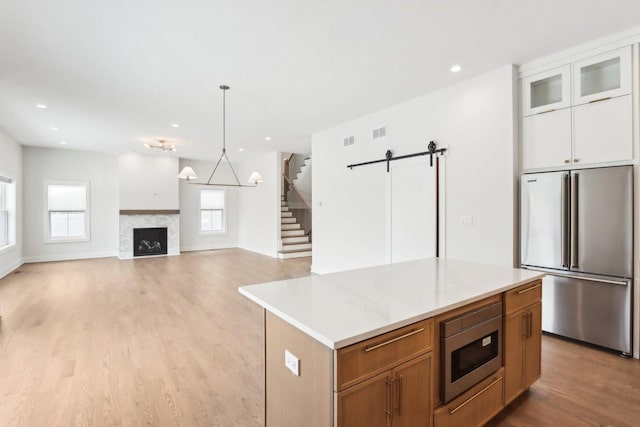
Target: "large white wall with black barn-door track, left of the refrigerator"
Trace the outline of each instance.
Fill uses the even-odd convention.
[[[403,214],[424,210],[424,188],[433,188],[434,178],[421,176],[424,170],[416,169],[411,179],[408,172],[404,191],[419,193],[422,202],[405,196],[398,204],[393,202],[392,174],[386,173],[384,164],[353,170],[346,165],[381,159],[387,149],[395,156],[426,151],[430,140],[449,148],[442,172],[446,253],[441,255],[512,266],[513,81],[513,67],[505,66],[314,134],[313,271],[359,268],[393,259],[391,248],[398,244],[399,233],[394,242],[392,208]],[[374,142],[371,132],[381,126],[387,126],[387,136]],[[351,135],[355,144],[344,147],[343,139]],[[404,162],[412,167],[409,160],[394,162],[393,167],[401,168]],[[461,226],[461,216],[472,217],[473,225]],[[424,226],[422,221],[431,222],[431,218],[414,215],[413,221]],[[415,237],[406,232],[404,236],[407,242],[401,244],[428,252]]]

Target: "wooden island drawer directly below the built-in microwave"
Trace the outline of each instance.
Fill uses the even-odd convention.
[[[434,412],[434,427],[479,426],[502,410],[503,370]]]

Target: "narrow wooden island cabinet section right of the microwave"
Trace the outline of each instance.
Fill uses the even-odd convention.
[[[542,282],[513,289],[505,295],[505,405],[540,378],[542,349]]]

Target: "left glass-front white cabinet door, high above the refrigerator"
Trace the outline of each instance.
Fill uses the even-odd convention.
[[[571,66],[554,68],[522,80],[524,116],[571,106]]]

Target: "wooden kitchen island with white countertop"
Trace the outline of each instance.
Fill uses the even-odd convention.
[[[486,422],[539,376],[542,277],[434,258],[241,287],[265,311],[267,427]],[[496,303],[502,366],[445,403],[440,324]]]

